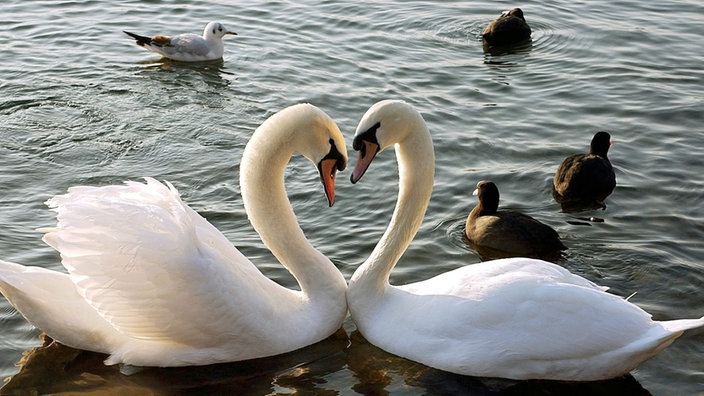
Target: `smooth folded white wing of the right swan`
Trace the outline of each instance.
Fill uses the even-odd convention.
[[[545,356],[606,352],[655,326],[636,305],[560,266],[534,259],[469,265],[398,289],[410,292],[408,298],[434,298],[435,307],[427,314],[453,318],[457,328],[451,332],[495,331],[503,337],[488,339],[515,343],[516,350],[534,348]]]

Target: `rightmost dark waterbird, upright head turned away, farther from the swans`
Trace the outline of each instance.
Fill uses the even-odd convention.
[[[604,200],[616,187],[616,174],[609,161],[611,134],[594,134],[586,154],[574,154],[558,166],[553,178],[553,197],[563,210],[605,208]]]

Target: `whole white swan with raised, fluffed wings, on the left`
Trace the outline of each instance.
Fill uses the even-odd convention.
[[[59,342],[106,364],[186,366],[280,354],[323,340],[347,315],[346,282],[296,222],[284,187],[299,152],[317,164],[329,204],[347,160],[335,122],[301,104],[270,117],[242,155],[249,219],[301,291],[264,276],[215,227],[154,179],[73,187],[48,201],[44,241],[68,275],[0,262],[0,290]]]

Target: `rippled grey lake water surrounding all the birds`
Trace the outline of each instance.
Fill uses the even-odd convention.
[[[482,28],[521,6],[530,46],[482,51]],[[476,182],[501,206],[552,225],[556,262],[655,319],[704,315],[704,3],[700,1],[5,1],[0,7],[0,257],[61,270],[41,242],[43,204],[72,185],[153,176],[171,181],[277,282],[293,278],[246,221],[238,164],[274,112],[311,102],[351,143],[366,109],[403,98],[424,115],[437,164],[423,227],[392,275],[426,279],[482,260],[462,240]],[[222,62],[160,60],[122,33],[202,31],[219,20]],[[563,213],[551,179],[567,155],[611,132],[617,187],[604,211]],[[350,154],[354,157],[354,152]],[[352,160],[354,163],[354,160]],[[349,279],[396,200],[394,156],[361,183],[340,175],[326,208],[296,159],[287,189],[309,239]],[[576,221],[596,216],[603,223]],[[581,224],[580,224],[581,223]],[[50,303],[50,302],[48,302]],[[40,332],[0,298],[0,376],[12,394],[654,394],[704,392],[704,332],[685,334],[632,376],[590,384],[450,375],[370,346],[348,318],[334,337],[251,362],[148,369],[39,347]],[[26,351],[20,368],[16,364]],[[14,392],[14,393],[13,393]]]

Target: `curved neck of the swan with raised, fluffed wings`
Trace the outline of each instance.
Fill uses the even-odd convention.
[[[332,289],[345,282],[332,262],[308,242],[288,200],[284,176],[296,146],[294,134],[293,128],[273,122],[255,131],[240,164],[242,200],[262,242],[296,278],[303,293],[325,294],[328,288],[321,285],[334,283]]]

